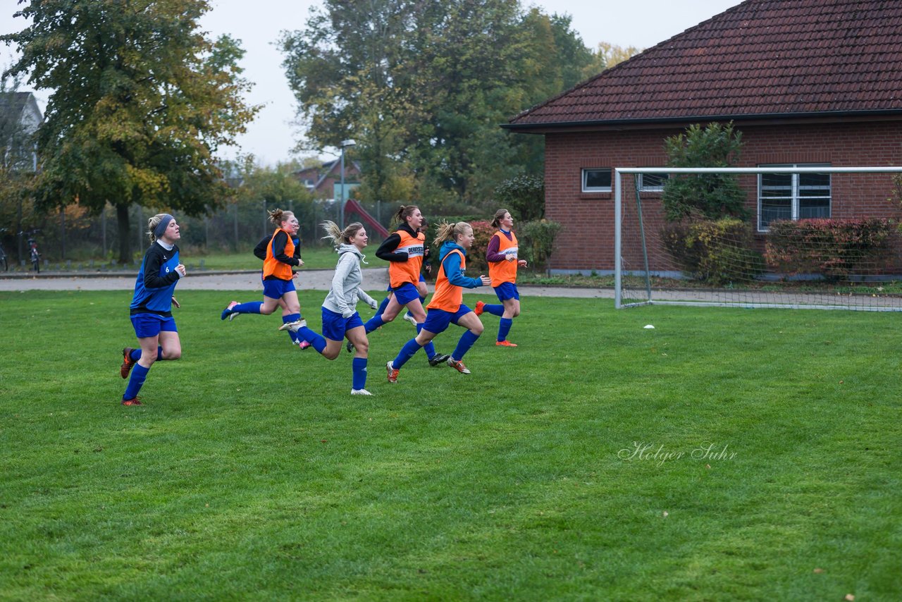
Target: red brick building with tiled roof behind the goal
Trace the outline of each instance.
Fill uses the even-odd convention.
[[[739,167],[902,165],[900,65],[902,2],[747,0],[515,116],[503,127],[545,136],[546,217],[566,228],[549,266],[613,268],[612,168],[663,167],[689,125],[732,121]],[[763,182],[741,180],[761,245],[773,219],[899,217],[889,174]],[[653,225],[663,183],[639,178]],[[635,193],[624,177],[624,205]]]

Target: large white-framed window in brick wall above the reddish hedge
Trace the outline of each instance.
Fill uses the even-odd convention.
[[[781,163],[759,167],[829,167],[828,163]],[[759,173],[758,229],[775,219],[830,217],[829,173]]]

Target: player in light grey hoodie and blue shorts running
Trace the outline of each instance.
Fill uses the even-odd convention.
[[[366,359],[370,343],[366,339],[364,322],[360,314],[354,310],[357,299],[363,299],[371,308],[376,309],[376,300],[360,288],[364,282],[364,274],[360,263],[364,262],[364,247],[367,244],[366,230],[360,222],[354,222],[339,228],[335,222],[326,221],[322,226],[327,236],[336,245],[338,263],[336,273],[332,276],[332,288],[323,301],[323,334],[319,335],[307,328],[307,320],[298,320],[282,324],[280,330],[296,332],[308,341],[323,357],[335,359],[341,353],[342,340],[347,338],[354,343],[354,360],[351,363],[352,395],[372,395],[366,386]],[[364,262],[365,264],[366,262]]]

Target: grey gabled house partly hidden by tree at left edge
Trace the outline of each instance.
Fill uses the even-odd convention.
[[[0,147],[11,167],[37,171],[38,154],[32,134],[43,122],[41,108],[32,92],[0,92]]]

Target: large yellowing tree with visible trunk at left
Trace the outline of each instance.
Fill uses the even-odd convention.
[[[38,135],[45,207],[115,206],[121,261],[131,259],[128,208],[198,215],[229,189],[216,151],[234,144],[257,107],[242,99],[237,41],[207,40],[205,0],[19,0],[31,20],[0,36],[53,90]],[[139,227],[143,225],[139,224]]]

